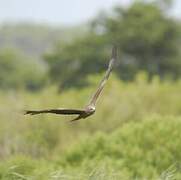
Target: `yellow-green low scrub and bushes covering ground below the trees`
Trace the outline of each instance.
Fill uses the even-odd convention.
[[[180,179],[181,82],[148,83],[141,73],[124,83],[111,76],[96,114],[23,116],[22,109],[82,107],[90,87],[57,93],[0,93],[1,179]]]

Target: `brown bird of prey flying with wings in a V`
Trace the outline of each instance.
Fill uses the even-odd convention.
[[[103,77],[103,79],[101,80],[96,92],[93,94],[89,104],[84,108],[84,109],[66,109],[66,108],[57,108],[57,109],[45,109],[45,110],[27,110],[25,111],[25,115],[26,114],[30,114],[30,115],[36,115],[36,114],[42,114],[42,113],[54,113],[54,114],[63,114],[63,115],[78,115],[76,118],[74,118],[71,121],[77,121],[80,119],[84,119],[87,118],[88,116],[92,115],[95,113],[96,110],[96,102],[97,99],[99,97],[99,95],[101,94],[108,78],[109,75],[113,69],[113,65],[116,61],[117,58],[117,47],[114,46],[112,48],[112,55],[111,55],[111,59],[109,61],[109,65],[108,65],[108,69]]]

